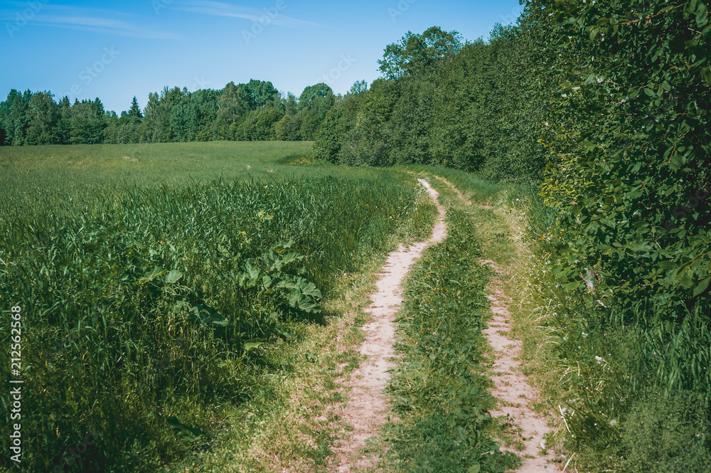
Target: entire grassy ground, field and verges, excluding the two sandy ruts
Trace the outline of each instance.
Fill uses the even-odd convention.
[[[518,464],[498,451],[515,435],[488,415],[481,364],[491,272],[480,261],[492,259],[511,275],[523,371],[541,393],[531,402],[558,419],[547,440],[561,466],[703,472],[710,461],[707,312],[670,320],[617,307],[600,280],[565,287],[552,269],[572,236],[535,186],[336,166],[300,142],[1,152],[6,346],[18,343],[11,307],[22,314],[21,373],[1,375],[24,382],[28,471],[268,472],[266,454],[328,471],[344,434],[327,406],[360,361],[336,340],[358,346],[373,273],[432,227],[417,177],[438,184],[450,234],[407,282],[388,389],[399,420],[366,454],[388,471]]]

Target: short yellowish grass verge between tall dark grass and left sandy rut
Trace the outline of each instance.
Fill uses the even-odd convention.
[[[348,275],[324,302],[324,324],[304,324],[299,336],[264,347],[260,390],[228,410],[230,425],[210,451],[166,471],[332,472],[334,447],[348,436],[341,419],[348,393],[341,384],[361,361],[362,308],[368,302],[377,257],[368,269]]]

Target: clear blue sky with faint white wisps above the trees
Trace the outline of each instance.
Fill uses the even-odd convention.
[[[345,93],[378,78],[383,49],[407,31],[488,38],[521,9],[518,0],[0,1],[0,100],[11,89],[49,90],[55,100],[99,97],[120,113],[166,85],[252,78],[296,96],[319,82]]]

